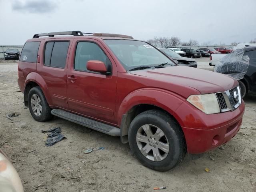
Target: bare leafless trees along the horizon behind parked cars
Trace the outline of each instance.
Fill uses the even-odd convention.
[[[178,46],[198,46],[199,42],[197,40],[190,39],[187,42],[182,42],[181,39],[177,36],[173,37],[154,37],[152,39],[146,40],[149,44],[152,44],[155,47],[178,47]],[[241,42],[232,42],[230,45],[237,45]],[[245,43],[245,42],[244,42]],[[256,38],[254,40],[250,40],[249,43],[256,43]],[[221,44],[221,43],[220,43]],[[204,42],[201,44],[202,46],[211,45],[210,42]],[[218,46],[218,44],[213,44]]]

